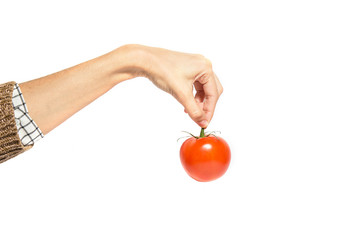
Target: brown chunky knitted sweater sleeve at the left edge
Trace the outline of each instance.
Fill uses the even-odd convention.
[[[0,84],[0,163],[23,153],[33,145],[24,146],[18,135],[12,104],[15,82]]]

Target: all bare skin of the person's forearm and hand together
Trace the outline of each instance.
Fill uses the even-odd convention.
[[[140,76],[175,97],[203,128],[223,92],[211,62],[202,55],[135,44],[21,83],[20,88],[30,116],[47,134],[115,85]]]

